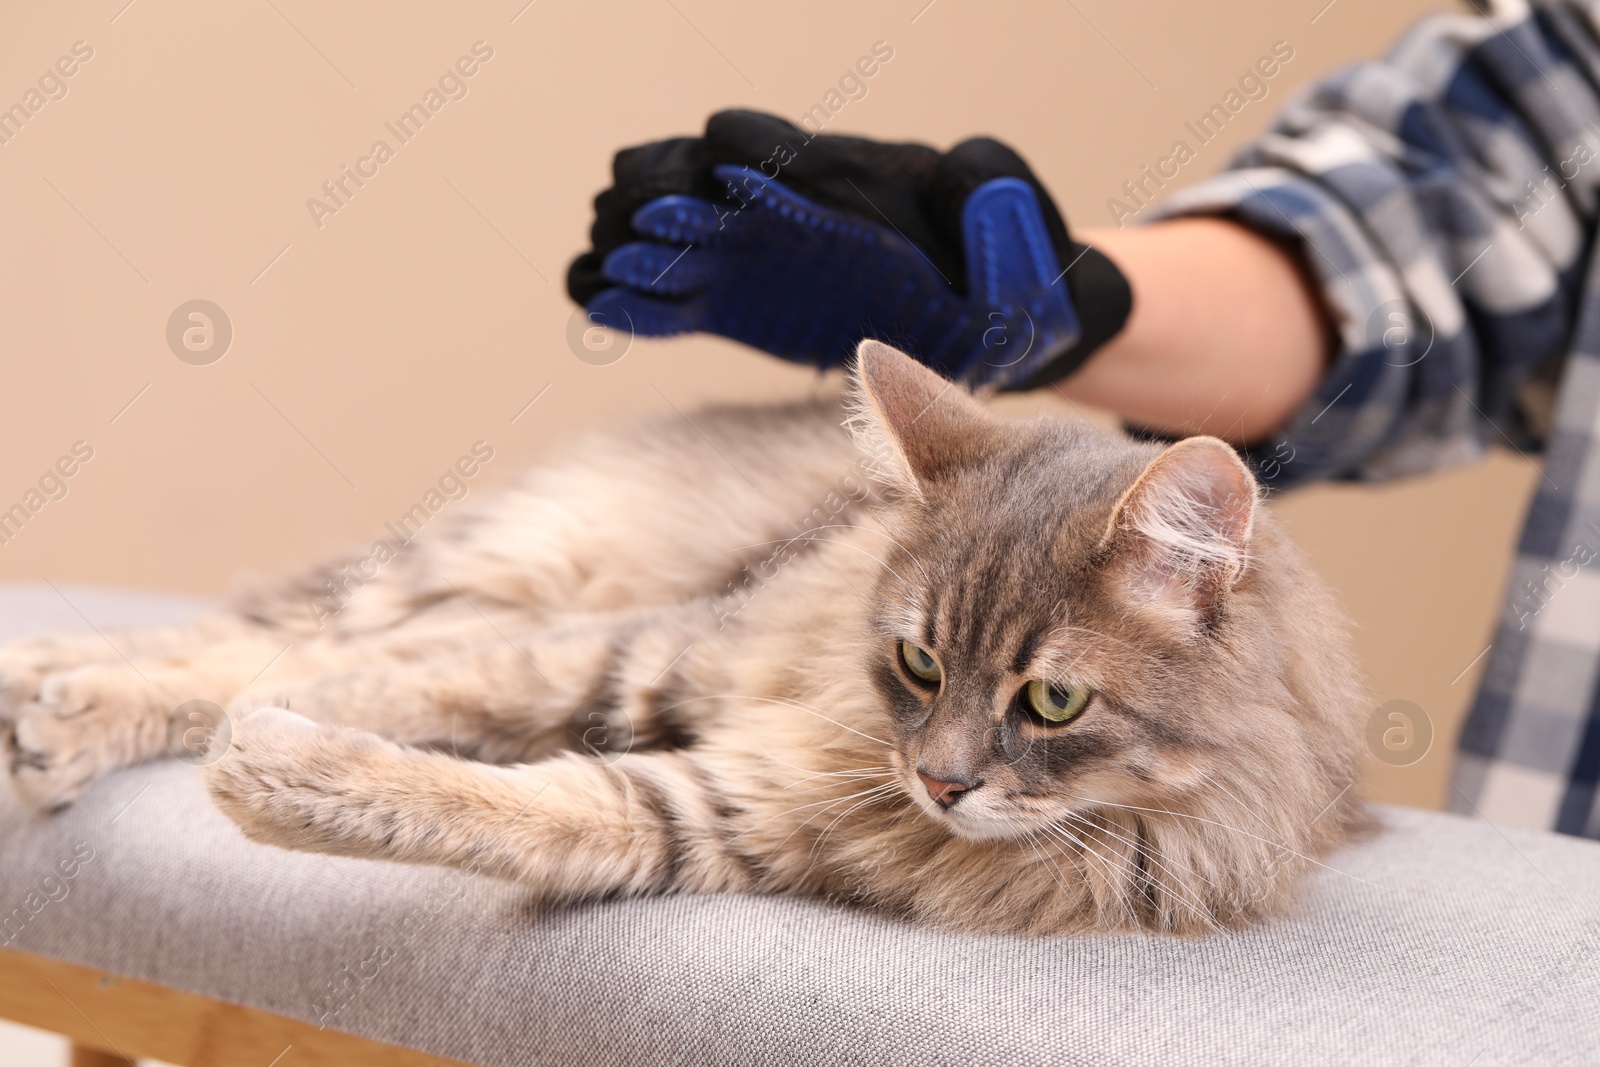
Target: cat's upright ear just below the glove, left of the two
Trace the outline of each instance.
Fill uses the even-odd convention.
[[[882,341],[856,347],[846,426],[874,474],[914,499],[1000,442],[998,421],[966,387]]]

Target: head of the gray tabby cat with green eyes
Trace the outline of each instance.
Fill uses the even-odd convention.
[[[867,672],[928,819],[1187,817],[1291,851],[1358,821],[1352,800],[1309,829],[1357,766],[1344,622],[1229,445],[1002,419],[878,342],[853,397],[893,499]]]

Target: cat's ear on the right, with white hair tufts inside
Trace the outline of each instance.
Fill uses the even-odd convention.
[[[1256,478],[1226,442],[1181,440],[1117,501],[1112,573],[1136,603],[1192,629],[1245,573],[1258,506]]]

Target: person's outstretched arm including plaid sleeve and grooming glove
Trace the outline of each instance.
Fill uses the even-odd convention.
[[[1144,430],[1227,437],[1269,485],[1398,477],[1462,462],[1502,440],[1531,450],[1549,432],[1600,194],[1595,37],[1587,11],[1565,0],[1539,3],[1533,18],[1437,16],[1386,59],[1323,80],[1234,170],[1150,213],[1166,221],[1082,230],[1070,245],[1056,243],[1067,288],[1082,290],[1075,250],[1093,248],[1126,282],[1131,314],[1126,322],[1104,315],[1114,328],[1094,346],[1029,368],[1038,373],[1006,376],[995,352],[941,363],[931,349],[944,334],[918,336],[915,315],[901,314],[915,301],[896,309],[859,299],[862,278],[877,275],[853,274],[861,250],[845,243],[813,246],[814,269],[803,278],[786,272],[794,246],[765,245],[765,237],[746,242],[738,261],[755,270],[696,277],[694,261],[715,264],[720,253],[691,238],[629,232],[626,213],[602,211],[597,253],[574,264],[574,277],[587,266],[589,285],[570,286],[590,309],[608,294],[632,301],[640,333],[710,330],[824,366],[848,350],[834,344],[845,333],[845,341],[882,336],[968,384],[1051,384]],[[827,134],[816,141],[827,144]],[[768,155],[784,181],[829,162],[808,134],[797,131],[795,144],[798,162]],[[885,168],[854,173],[861,182],[877,178]],[[894,174],[885,181],[896,186]],[[709,178],[702,184],[690,192],[718,195]],[[957,227],[941,234],[933,218],[918,229],[926,219],[917,189],[899,206],[870,184],[845,192],[827,206],[891,242],[910,234],[930,248],[926,285],[912,286],[918,299],[982,277],[958,235],[950,238]],[[854,192],[864,194],[861,203],[851,203]],[[1038,195],[1053,211],[1042,187]],[[731,213],[736,226],[750,218],[742,205]],[[600,261],[610,266],[640,237],[662,240],[659,264],[602,277]],[[917,254],[902,261],[920,267]],[[778,269],[763,275],[763,264]],[[683,290],[672,290],[675,278],[686,278]],[[594,301],[605,285],[614,288]],[[808,347],[802,334],[818,322],[816,309],[842,296],[859,307],[834,317],[837,336],[827,344]],[[1072,291],[1070,304],[1088,322],[1106,301]],[[702,314],[707,307],[725,322]],[[1027,331],[982,336],[990,333]]]

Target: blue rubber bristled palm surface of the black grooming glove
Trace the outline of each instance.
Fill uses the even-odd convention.
[[[715,333],[829,366],[862,338],[912,352],[974,384],[1030,378],[1082,330],[1038,200],[995,178],[968,198],[963,291],[883,224],[824,208],[747,166],[715,168],[742,205],[662,197],[640,208],[602,272],[618,288],[595,322],[645,336]]]

